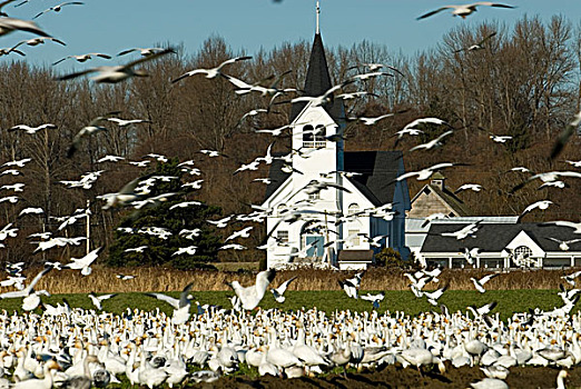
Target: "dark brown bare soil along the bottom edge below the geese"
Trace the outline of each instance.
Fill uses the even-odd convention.
[[[555,388],[557,368],[511,368],[506,378],[510,388]],[[295,378],[282,379],[276,377],[262,377],[250,379],[247,377],[223,377],[213,383],[196,383],[193,388],[293,388],[293,389],[327,389],[327,388],[470,388],[470,382],[484,378],[484,373],[477,367],[451,368],[444,375],[425,372],[420,375],[415,369],[387,366],[374,372],[347,373],[343,376],[328,376],[325,378]],[[569,370],[565,380],[567,388],[581,388],[581,369]],[[188,385],[188,387],[190,387]]]

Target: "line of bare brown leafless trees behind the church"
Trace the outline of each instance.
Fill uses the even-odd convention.
[[[481,50],[461,50],[493,34]],[[397,149],[404,151],[406,170],[418,170],[441,161],[462,161],[467,167],[451,171],[447,184],[454,189],[464,182],[481,183],[484,193],[462,193],[462,200],[475,215],[519,215],[534,200],[550,198],[559,203],[545,212],[531,213],[524,221],[569,219],[579,221],[581,184],[570,180],[570,188],[544,188],[534,184],[509,193],[511,187],[526,178],[506,172],[516,166],[532,171],[573,169],[564,160],[581,159],[579,136],[568,144],[562,156],[551,161],[553,139],[571,121],[581,107],[581,23],[573,26],[564,17],[543,22],[536,17],[523,17],[511,28],[485,22],[474,28],[452,29],[435,48],[405,56],[383,44],[363,41],[351,48],[325,48],[333,82],[337,83],[364,72],[364,63],[385,63],[402,74],[377,77],[349,90],[366,90],[370,94],[345,102],[347,118],[401,112],[377,126],[363,126],[348,120],[345,148],[349,150],[391,150],[395,131],[421,117],[437,117],[455,128],[446,144],[434,151],[406,152],[412,146],[439,134],[437,129],[424,128],[420,138],[403,139]],[[58,68],[33,67],[22,60],[0,63],[0,164],[31,158],[22,168],[22,176],[0,176],[0,187],[13,182],[26,183],[16,205],[0,203],[4,220],[20,231],[9,238],[0,250],[3,260],[30,260],[36,248],[26,236],[55,230],[58,221],[51,217],[71,215],[90,200],[91,240],[93,245],[110,246],[116,226],[126,217],[124,211],[102,210],[96,196],[115,192],[125,183],[147,171],[128,163],[148,153],[159,153],[178,160],[195,160],[203,172],[203,188],[188,194],[221,208],[223,215],[248,213],[248,205],[260,203],[265,187],[254,178],[266,177],[263,167],[256,172],[233,176],[242,164],[264,154],[273,141],[255,129],[276,128],[288,123],[288,97],[275,99],[258,93],[237,96],[234,87],[223,78],[190,77],[178,83],[170,80],[195,68],[211,68],[235,56],[220,37],[208,38],[198,52],[177,53],[144,64],[149,77],[112,86],[93,83],[87,79],[56,81]],[[311,42],[286,42],[272,50],[252,53],[253,59],[237,62],[224,70],[249,83],[288,72],[279,88],[304,84]],[[267,82],[267,81],[264,81]],[[252,109],[269,108],[268,113],[240,118]],[[118,112],[125,119],[148,122],[117,127],[105,124],[108,131],[90,137],[73,158],[67,149],[76,133],[92,119]],[[55,130],[28,134],[8,131],[17,124],[53,123]],[[490,134],[512,137],[496,143]],[[288,152],[290,140],[280,137],[273,150]],[[219,162],[199,153],[200,149],[218,150],[226,154]],[[106,154],[126,158],[117,163],[98,162]],[[60,181],[78,179],[87,172],[106,170],[90,189],[69,189]],[[1,171],[0,171],[1,173]],[[196,177],[193,177],[193,179]],[[424,182],[408,182],[411,196]],[[0,191],[0,196],[8,196]],[[42,216],[18,218],[24,207],[41,207]],[[226,232],[229,232],[226,230]],[[225,232],[225,233],[226,233]],[[255,229],[248,247],[256,247],[265,236]],[[85,233],[85,227],[70,226],[69,236]],[[217,233],[221,233],[218,231]],[[98,243],[97,243],[98,242]],[[76,252],[76,251],[73,251]],[[69,251],[47,252],[65,257]],[[256,259],[256,250],[223,255],[229,260]],[[38,255],[37,255],[38,257]],[[32,258],[37,258],[32,257]],[[33,259],[35,260],[35,259]]]

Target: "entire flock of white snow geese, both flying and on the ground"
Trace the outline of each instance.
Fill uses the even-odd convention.
[[[1,10],[6,6],[16,0],[6,0],[0,3],[0,36],[4,36],[14,31],[23,31],[39,36],[40,38],[23,40],[12,48],[1,49],[0,56],[16,53],[24,56],[22,51],[24,46],[43,44],[47,41],[65,44],[63,41],[56,39],[42,31],[33,21],[21,20],[8,17]],[[28,3],[29,0],[21,1],[16,7]],[[60,12],[63,7],[81,6],[82,2],[69,1],[58,6],[50,7],[32,19],[42,17],[50,12]],[[479,1],[463,6],[444,6],[434,11],[422,14],[417,19],[429,18],[444,10],[452,10],[454,16],[465,18],[473,13],[477,7],[488,6],[495,8],[513,8],[512,6]],[[490,34],[480,42],[475,42],[462,51],[476,51],[483,48],[483,44],[492,39]],[[117,83],[131,77],[147,76],[144,70],[135,69],[138,64],[151,61],[163,56],[171,54],[175,51],[171,48],[132,48],[121,51],[118,56],[129,53],[139,53],[140,57],[120,66],[101,66],[88,68],[86,70],[73,72],[59,77],[59,80],[69,80],[77,77],[93,74],[95,82]],[[57,60],[53,64],[58,64],[66,60],[76,60],[78,62],[89,61],[93,58],[109,60],[111,56],[90,52],[83,54],[71,54]],[[260,113],[268,113],[269,108],[275,100],[287,93],[296,93],[297,89],[279,89],[277,83],[284,77],[276,78],[268,87],[262,86],[259,82],[248,83],[238,80],[223,71],[226,67],[233,66],[238,61],[244,61],[249,57],[237,57],[221,62],[211,69],[194,69],[190,70],[171,82],[177,83],[186,78],[203,74],[207,79],[216,79],[223,77],[228,80],[235,88],[237,94],[246,94],[250,92],[260,93],[269,97],[268,108],[258,108],[246,113],[240,120]],[[323,106],[331,101],[332,98],[354,99],[367,94],[365,91],[338,93],[346,86],[356,84],[361,80],[373,77],[395,77],[395,74],[378,71],[382,68],[388,68],[394,72],[396,69],[381,63],[367,63],[367,73],[357,74],[346,81],[343,81],[325,93],[318,97],[299,96],[288,100],[289,102],[306,101],[313,106]],[[348,118],[358,120],[366,126],[374,126],[378,121],[392,117],[395,113],[386,113],[377,118]],[[571,123],[555,140],[553,151],[550,158],[554,159],[565,147],[569,139],[577,130],[581,121],[581,112],[578,113]],[[98,132],[109,131],[105,123],[115,123],[118,127],[135,126],[147,120],[141,119],[121,119],[114,114],[104,114],[95,118],[90,123],[83,127],[73,138],[69,149],[68,157],[72,158],[79,149],[81,142]],[[420,124],[431,123],[444,126],[446,131],[437,138],[426,143],[415,146],[408,150],[421,151],[432,150],[443,146],[446,137],[454,134],[452,126],[439,118],[420,118],[405,126],[394,137],[397,142],[404,137],[413,137],[422,133]],[[51,123],[36,124],[16,124],[10,131],[22,131],[27,136],[35,136],[39,131],[55,130],[56,126]],[[285,126],[275,130],[257,130],[258,133],[270,133],[278,137],[292,126]],[[511,138],[508,136],[490,134],[494,142],[506,142]],[[333,141],[333,139],[328,139]],[[287,157],[273,157],[268,147],[266,156],[258,157],[248,164],[243,164],[237,171],[257,170],[260,163],[270,164],[274,159],[282,158],[285,161],[285,168],[293,171]],[[208,158],[220,157],[215,150],[200,150]],[[308,157],[306,151],[296,150]],[[104,156],[99,159],[99,163],[117,163],[124,160],[119,156]],[[147,167],[152,160],[159,162],[167,161],[165,156],[151,153],[147,159],[141,161],[129,161],[138,167]],[[21,172],[17,168],[23,168],[30,159],[14,160],[6,162],[0,167],[0,177],[19,176]],[[568,161],[572,167],[581,167],[581,161]],[[461,166],[459,162],[442,162],[420,171],[407,172],[400,176],[396,180],[401,181],[407,178],[416,177],[417,180],[425,180],[434,172],[442,169]],[[200,171],[194,168],[194,161],[184,161],[180,167],[188,174],[199,176]],[[530,173],[521,184],[513,188],[516,191],[529,182],[540,180],[543,186],[553,186],[563,188],[565,183],[561,181],[563,178],[581,178],[578,171],[551,171],[534,173],[526,168],[514,168],[513,171]],[[295,170],[296,171],[296,170]],[[79,180],[62,181],[70,188],[89,189],[92,183],[99,179],[104,170],[88,172]],[[333,177],[331,172],[329,176]],[[349,172],[341,172],[349,174]],[[354,174],[354,173],[352,173]],[[157,181],[175,179],[174,177],[148,174],[128,182],[124,188],[115,193],[106,193],[99,198],[105,201],[104,209],[110,208],[135,208],[139,210],[142,207],[156,206],[177,193],[164,193],[156,197],[148,197],[151,186]],[[268,179],[257,179],[260,182],[268,183]],[[185,187],[193,190],[199,189],[203,180],[198,179],[187,182]],[[4,184],[0,190],[20,192],[23,190],[23,183]],[[316,193],[322,190],[335,189],[347,190],[341,186],[325,180],[314,180],[301,189],[306,193]],[[481,191],[480,184],[466,183],[460,187],[456,192],[462,190]],[[10,196],[0,199],[0,202],[17,203],[18,196]],[[184,201],[174,207],[197,206],[197,201]],[[545,209],[551,206],[549,200],[539,201],[526,207],[521,217],[534,209]],[[250,215],[228,216],[220,220],[208,220],[216,228],[225,228],[229,222],[236,220],[243,221],[263,221],[269,210],[258,209]],[[377,212],[390,216],[391,209],[373,209],[367,212]],[[88,209],[79,209],[73,215],[60,219],[61,225],[58,231],[63,230],[68,226],[73,225],[77,220],[86,218]],[[19,217],[29,215],[41,215],[41,208],[28,207],[20,211]],[[309,211],[301,208],[289,208],[284,216],[285,222],[293,222],[301,219]],[[434,216],[437,218],[439,216]],[[339,221],[341,218],[337,218]],[[581,233],[581,223],[557,221],[557,225],[571,227],[575,229],[575,233]],[[479,222],[471,223],[462,230],[455,232],[445,232],[447,236],[456,239],[464,239],[474,233],[479,228]],[[234,242],[238,239],[249,237],[253,227],[246,227],[235,231],[225,239],[223,249],[245,249],[244,246]],[[139,230],[124,228],[125,232],[148,233],[166,239],[170,231],[150,227]],[[0,230],[0,245],[8,238],[17,236],[18,228],[13,223],[8,223]],[[186,239],[195,240],[199,235],[199,230],[183,230],[180,236]],[[38,232],[30,236],[39,239],[38,251],[49,250],[53,247],[63,247],[67,245],[79,246],[86,238],[77,237],[51,237],[50,232]],[[275,237],[270,237],[276,240]],[[371,238],[367,237],[370,241]],[[232,242],[230,242],[232,241]],[[562,245],[573,245],[579,239]],[[226,243],[228,242],[228,243]],[[375,241],[374,241],[375,242]],[[279,245],[282,242],[276,242]],[[376,243],[376,242],[375,242]],[[264,249],[270,248],[270,243],[266,243]],[[147,247],[137,247],[128,249],[131,252],[142,252]],[[327,315],[318,311],[316,308],[311,310],[301,310],[297,312],[285,312],[283,310],[270,309],[260,310],[258,305],[267,292],[270,282],[274,280],[276,271],[270,269],[259,272],[256,277],[255,285],[243,287],[238,281],[230,283],[235,292],[233,297],[233,308],[221,309],[219,307],[191,305],[191,283],[187,285],[178,299],[171,298],[163,293],[147,293],[174,308],[173,316],[166,316],[159,310],[155,312],[131,311],[127,310],[124,315],[112,315],[104,310],[104,305],[115,293],[96,296],[89,293],[88,297],[95,305],[92,310],[82,310],[71,308],[66,302],[57,306],[49,306],[41,301],[41,296],[50,296],[47,290],[36,290],[38,281],[51,270],[78,270],[82,276],[91,275],[91,265],[98,258],[102,248],[99,247],[88,252],[82,258],[71,258],[69,263],[46,262],[42,269],[28,285],[22,276],[23,263],[9,263],[7,268],[8,278],[0,282],[2,287],[13,287],[14,291],[0,295],[0,299],[22,298],[23,315],[0,313],[0,387],[14,387],[18,389],[50,389],[53,386],[86,389],[91,385],[102,388],[110,382],[118,382],[119,378],[126,377],[132,385],[147,386],[148,388],[158,387],[163,383],[170,388],[174,385],[184,383],[185,380],[195,382],[211,382],[217,380],[221,375],[232,373],[238,370],[240,363],[256,367],[258,373],[273,375],[280,377],[302,377],[312,376],[328,371],[335,367],[355,367],[358,370],[377,369],[382,366],[398,363],[403,367],[413,367],[420,372],[437,367],[442,373],[450,367],[479,366],[486,376],[482,381],[471,383],[474,388],[506,388],[504,382],[510,373],[510,368],[514,366],[555,366],[563,369],[570,369],[581,363],[581,315],[570,316],[570,311],[579,299],[580,289],[575,287],[575,278],[581,272],[574,272],[564,276],[563,280],[573,289],[567,289],[561,286],[559,296],[563,300],[562,307],[555,307],[552,311],[531,310],[526,313],[514,313],[508,321],[501,321],[499,313],[492,313],[495,302],[492,301],[483,307],[469,307],[469,312],[450,312],[445,306],[441,306],[441,313],[425,312],[417,317],[405,316],[404,312],[386,312],[378,315],[376,310],[371,312],[351,312],[348,309],[336,311]],[[477,251],[477,249],[476,249]],[[177,250],[174,256],[194,255],[196,246],[188,246]],[[477,252],[467,250],[466,259],[473,258]],[[446,291],[443,286],[435,291],[424,291],[423,288],[430,282],[437,282],[437,276],[441,269],[421,270],[415,273],[406,273],[410,279],[412,291],[417,298],[426,298],[433,306],[439,306],[439,299]],[[474,288],[484,293],[484,285],[498,273],[485,276],[481,279],[472,279]],[[345,293],[353,299],[363,299],[372,302],[373,308],[377,309],[384,299],[384,293],[377,295],[358,295],[362,278],[364,273],[357,273],[355,277],[339,281]],[[130,280],[131,276],[119,275],[122,280]],[[270,288],[274,298],[279,303],[285,301],[285,291],[288,285],[294,280],[290,278],[282,282],[277,288]],[[42,308],[42,315],[35,313],[37,308]],[[191,308],[195,308],[195,316],[190,315]],[[256,313],[248,313],[250,310],[257,309]],[[196,367],[191,369],[191,367]],[[195,371],[193,371],[195,370]],[[558,388],[564,388],[564,379],[567,370],[557,373],[555,382]],[[11,378],[12,381],[9,379]]]

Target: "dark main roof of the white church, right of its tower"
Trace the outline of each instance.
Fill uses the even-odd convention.
[[[361,173],[348,180],[375,206],[392,202],[401,151],[345,151],[344,170]]]

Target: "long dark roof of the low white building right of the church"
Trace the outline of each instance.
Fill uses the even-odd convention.
[[[456,252],[464,248],[477,247],[484,252],[502,251],[521,231],[524,231],[543,251],[561,251],[559,243],[546,238],[570,240],[579,238],[573,229],[560,226],[540,226],[538,223],[481,223],[475,238],[457,240],[442,237],[442,232],[453,232],[469,223],[432,223],[421,252]],[[581,243],[571,245],[570,251],[581,251]]]

